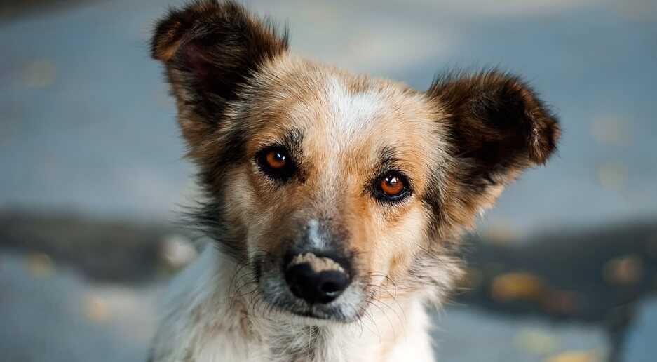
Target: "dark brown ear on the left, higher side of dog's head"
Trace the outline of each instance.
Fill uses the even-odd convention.
[[[194,152],[225,116],[250,76],[287,51],[287,36],[232,1],[196,1],[157,23],[151,55],[161,60]]]

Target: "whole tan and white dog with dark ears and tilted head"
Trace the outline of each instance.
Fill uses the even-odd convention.
[[[156,25],[212,239],[172,282],[152,362],[433,361],[426,307],[459,236],[555,152],[555,115],[512,74],[428,90],[299,58],[230,1]]]

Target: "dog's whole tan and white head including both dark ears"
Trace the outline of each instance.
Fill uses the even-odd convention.
[[[517,78],[446,76],[427,91],[295,57],[231,3],[162,20],[153,39],[209,200],[198,219],[301,316],[353,321],[373,301],[440,297],[454,238],[559,128]]]

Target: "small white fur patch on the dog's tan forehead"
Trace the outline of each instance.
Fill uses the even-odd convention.
[[[375,90],[353,93],[337,76],[327,81],[327,100],[332,108],[333,137],[344,139],[372,126],[374,115],[381,109],[381,95]]]

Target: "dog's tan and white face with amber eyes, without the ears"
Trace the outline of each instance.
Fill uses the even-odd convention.
[[[300,314],[352,319],[424,246],[424,195],[448,157],[445,130],[435,107],[405,86],[290,56],[267,68],[233,111],[248,122],[224,203],[243,225],[248,255],[260,258],[263,295]],[[350,285],[335,302],[290,290],[290,261],[306,253],[344,269]]]

